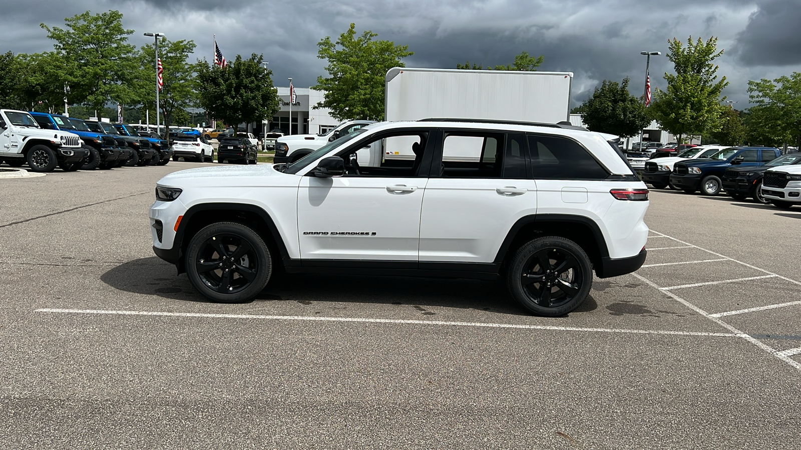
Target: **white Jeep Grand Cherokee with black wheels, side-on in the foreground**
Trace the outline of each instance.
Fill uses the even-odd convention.
[[[383,158],[407,148],[414,159]],[[219,302],[251,299],[283,267],[503,277],[529,311],[564,315],[593,271],[646,259],[645,184],[603,135],[569,126],[376,123],[296,163],[175,172],[155,194],[155,254]]]

